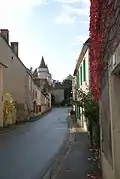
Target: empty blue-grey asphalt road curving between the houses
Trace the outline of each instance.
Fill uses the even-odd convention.
[[[0,179],[39,179],[68,134],[68,109],[0,135]]]

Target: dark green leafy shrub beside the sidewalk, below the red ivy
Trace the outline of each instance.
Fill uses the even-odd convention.
[[[91,93],[85,93],[82,90],[77,91],[77,103],[87,118],[87,126],[90,134],[91,145],[100,147],[100,126],[99,126],[99,105],[93,99]]]

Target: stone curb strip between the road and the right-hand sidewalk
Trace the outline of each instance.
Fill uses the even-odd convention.
[[[50,161],[49,166],[41,174],[40,179],[54,179],[55,178],[58,167],[62,163],[64,156],[66,155],[67,151],[69,150],[69,147],[71,146],[71,143],[73,140],[74,140],[74,135],[71,134],[71,132],[70,132],[69,122],[68,122],[68,134],[67,134],[62,146],[60,147],[59,151],[53,157],[53,159]]]

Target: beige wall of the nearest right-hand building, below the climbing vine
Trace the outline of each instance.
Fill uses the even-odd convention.
[[[100,96],[101,163],[104,179],[120,178],[120,45],[108,62]]]

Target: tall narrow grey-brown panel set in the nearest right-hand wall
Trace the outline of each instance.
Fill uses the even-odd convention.
[[[102,88],[101,100],[104,105],[101,105],[101,127],[102,127],[102,152],[107,160],[113,165],[112,158],[112,137],[111,137],[111,119],[110,119],[110,99],[109,99],[109,84],[108,81]]]

